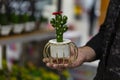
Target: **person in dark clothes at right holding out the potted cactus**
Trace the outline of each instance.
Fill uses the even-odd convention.
[[[50,68],[63,70],[98,59],[94,80],[120,80],[120,0],[110,0],[99,32],[85,46],[78,47],[78,58],[73,64],[50,64],[47,58],[43,62]]]

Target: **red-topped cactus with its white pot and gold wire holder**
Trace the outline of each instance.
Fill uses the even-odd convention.
[[[55,28],[56,39],[51,39],[45,45],[44,57],[51,59],[51,62],[64,63],[72,62],[77,57],[77,47],[69,40],[63,38],[63,33],[68,30],[67,16],[62,16],[62,11],[54,12],[54,18],[50,20],[51,25]],[[71,55],[71,47],[74,49],[74,55]]]

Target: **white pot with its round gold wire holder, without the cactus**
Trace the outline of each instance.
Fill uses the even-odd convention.
[[[71,47],[74,54],[71,54]],[[69,39],[64,39],[63,42],[52,39],[45,45],[44,57],[51,59],[55,63],[73,62],[77,58],[77,47]]]

